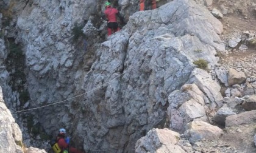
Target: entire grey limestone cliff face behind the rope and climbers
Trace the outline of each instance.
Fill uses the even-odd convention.
[[[10,12],[12,19],[0,22],[0,85],[17,122],[26,119],[28,146],[49,149],[41,134],[60,127],[87,152],[156,151],[166,144],[157,135],[166,131],[163,139],[173,146],[161,150],[176,147],[179,134],[154,127],[185,132],[191,143],[222,134],[208,124],[223,104],[221,84],[212,77],[217,52],[225,51],[222,24],[204,5],[160,1],[158,9],[137,12],[138,1],[113,1],[129,22],[106,37],[102,1],[2,3],[2,22]],[[198,60],[208,70],[196,68]],[[147,148],[154,144],[150,135],[162,143]],[[185,140],[180,145],[180,152],[191,150]]]

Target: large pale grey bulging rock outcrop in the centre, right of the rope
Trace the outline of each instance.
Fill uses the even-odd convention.
[[[193,16],[193,12],[202,14]],[[132,152],[144,132],[163,126],[168,95],[189,80],[192,61],[204,58],[209,67],[218,62],[216,49],[224,49],[217,34],[221,30],[221,23],[193,1],[173,1],[130,16],[122,32],[101,44],[96,51],[99,58],[85,75],[84,91],[97,90],[85,96],[76,118],[77,135],[87,134],[84,148]],[[196,49],[203,52],[195,53]],[[196,70],[190,81],[200,83],[201,73]],[[221,96],[210,93],[214,86],[200,85],[211,103],[219,103]]]

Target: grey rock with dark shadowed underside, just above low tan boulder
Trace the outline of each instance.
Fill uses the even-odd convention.
[[[221,107],[215,114],[214,120],[221,126],[225,126],[226,117],[229,115],[235,115],[232,109],[229,107]]]

